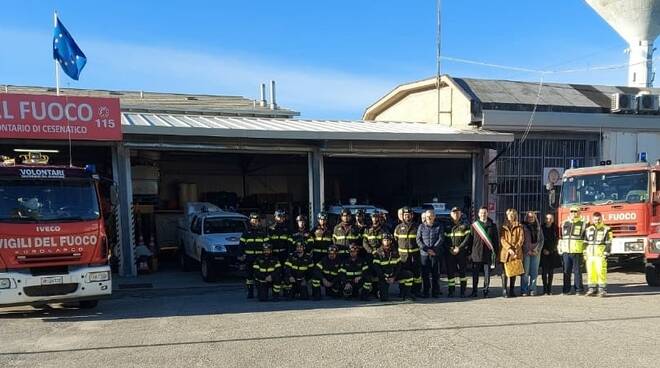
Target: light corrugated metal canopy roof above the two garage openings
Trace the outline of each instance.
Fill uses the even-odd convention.
[[[513,136],[427,123],[122,113],[126,134],[293,140],[509,142]]]

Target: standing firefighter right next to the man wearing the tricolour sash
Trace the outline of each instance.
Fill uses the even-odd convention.
[[[445,228],[445,244],[447,253],[447,284],[449,285],[447,296],[454,297],[456,284],[460,282],[461,298],[465,297],[467,288],[467,248],[470,242],[470,225],[461,219],[461,209],[451,209],[451,224]]]

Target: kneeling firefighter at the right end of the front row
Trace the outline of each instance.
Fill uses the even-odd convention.
[[[382,245],[374,253],[373,272],[378,280],[378,296],[383,302],[390,299],[390,285],[398,282],[401,297],[405,300],[413,284],[412,273],[401,268],[401,258],[393,243],[392,234],[385,233]]]

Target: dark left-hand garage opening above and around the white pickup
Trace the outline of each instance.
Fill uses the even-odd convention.
[[[276,209],[289,219],[309,212],[306,154],[255,154],[132,150],[136,244],[153,242],[165,263],[177,267],[179,221],[188,202],[227,211],[259,212],[264,225]]]

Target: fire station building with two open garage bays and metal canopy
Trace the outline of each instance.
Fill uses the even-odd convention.
[[[474,126],[296,119],[298,112],[275,101],[238,96],[63,89],[54,97],[53,89],[17,86],[4,92],[0,106],[12,95],[61,99],[63,106],[77,98],[119,103],[118,139],[81,132],[44,139],[0,128],[0,154],[54,149],[54,164],[94,164],[107,179],[104,197],[114,203],[106,216],[116,229],[121,275],[136,274],[136,243],[177,246],[176,221],[189,201],[242,213],[284,208],[310,218],[349,198],[390,211],[432,198],[483,205],[487,152],[513,141],[510,133]],[[53,129],[71,132],[71,125]]]

